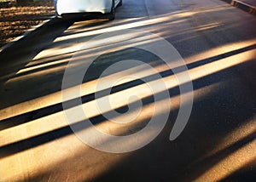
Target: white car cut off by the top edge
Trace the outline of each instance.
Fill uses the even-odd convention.
[[[54,0],[57,15],[76,13],[107,14],[114,19],[115,8],[122,5],[122,0]]]

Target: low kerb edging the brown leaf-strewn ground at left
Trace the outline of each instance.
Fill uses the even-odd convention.
[[[0,48],[0,54],[9,48],[12,48],[16,43],[20,43],[26,39],[29,39],[36,34],[40,33],[41,31],[44,31],[45,29],[49,28],[49,26],[54,25],[58,21],[57,16],[51,16],[48,20],[44,20],[42,23],[38,24],[37,26],[33,26],[31,29],[26,31],[23,35],[20,37],[16,37],[14,40],[11,42],[3,45],[3,47]]]

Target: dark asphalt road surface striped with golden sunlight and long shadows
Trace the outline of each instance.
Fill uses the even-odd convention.
[[[255,16],[219,0],[124,0],[116,11],[113,21],[60,20],[0,54],[0,180],[255,181]],[[153,49],[178,53],[188,71],[182,60],[170,69]],[[73,77],[86,66],[85,76]],[[67,67],[73,82],[62,88]],[[189,82],[191,113],[191,93],[179,89]],[[79,101],[84,118],[75,110]],[[189,120],[170,140],[180,108]],[[159,125],[147,128],[154,116],[166,122],[155,139]],[[88,122],[133,138],[113,145]],[[142,136],[131,135],[143,128]]]

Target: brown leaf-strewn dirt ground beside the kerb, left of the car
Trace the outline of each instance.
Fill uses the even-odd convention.
[[[25,7],[17,7],[14,2],[0,2],[0,47],[54,14],[51,0],[32,3]]]

